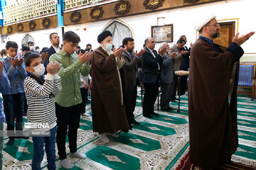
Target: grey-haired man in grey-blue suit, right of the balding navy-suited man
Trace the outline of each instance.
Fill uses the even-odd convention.
[[[174,62],[173,59],[178,52],[169,52],[170,46],[167,42],[162,42],[160,45],[161,47],[166,47],[166,52],[163,55],[163,62],[160,64],[161,68],[161,111],[171,111],[169,106],[169,102],[171,100],[171,91],[173,90],[174,86]],[[169,53],[168,53],[169,52]]]

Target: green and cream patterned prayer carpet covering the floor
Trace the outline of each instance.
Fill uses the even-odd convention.
[[[171,103],[174,109],[167,113],[159,111],[154,119],[142,116],[141,99],[137,98],[136,120],[129,133],[112,137],[107,145],[100,142],[99,135],[92,132],[91,117],[80,120],[78,130],[78,151],[86,154],[84,160],[69,157],[75,164],[73,169],[175,169],[189,149],[188,98],[181,97],[181,113],[176,113],[178,103]],[[158,112],[158,111],[156,111]],[[87,113],[91,114],[90,105]],[[26,118],[24,118],[26,121]],[[6,124],[5,124],[6,128]],[[232,159],[256,167],[256,101],[246,96],[238,97],[239,148]],[[4,143],[8,141],[5,137]],[[6,169],[31,169],[33,157],[32,140],[16,140],[13,146],[4,149]],[[67,152],[68,139],[66,144]],[[62,169],[56,149],[56,166]],[[166,158],[167,159],[166,159]],[[165,159],[164,159],[165,158]],[[41,166],[46,168],[46,155]],[[5,169],[5,168],[3,168]]]

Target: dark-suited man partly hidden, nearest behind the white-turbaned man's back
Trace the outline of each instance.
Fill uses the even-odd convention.
[[[182,55],[181,70],[188,71],[190,50],[191,50],[191,47],[193,44],[191,42],[191,47],[188,48],[188,47],[186,47],[186,42],[188,41],[186,39],[186,36],[181,35],[180,38],[185,41],[185,45],[183,47],[181,47],[181,51],[188,51],[188,53],[186,53],[185,55]],[[181,77],[181,95],[185,94],[187,79],[188,79],[188,76]]]

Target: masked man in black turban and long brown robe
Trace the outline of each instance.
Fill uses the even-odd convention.
[[[111,51],[109,30],[100,33],[97,41],[101,46],[92,54],[92,128],[107,143],[110,142],[107,135],[118,137],[118,132],[129,129],[119,74],[125,62],[121,57],[124,49]]]

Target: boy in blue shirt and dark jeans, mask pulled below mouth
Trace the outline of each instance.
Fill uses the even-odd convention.
[[[7,135],[9,142],[7,145],[14,145],[14,137],[26,138],[22,132],[23,107],[24,107],[24,86],[23,81],[26,79],[26,69],[23,59],[17,58],[18,45],[14,41],[6,43],[7,57],[3,60],[4,71],[9,78],[11,89],[3,95],[4,113],[6,114]],[[14,117],[16,115],[16,132],[14,132]]]

